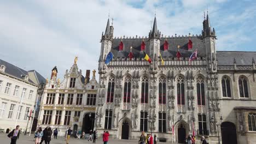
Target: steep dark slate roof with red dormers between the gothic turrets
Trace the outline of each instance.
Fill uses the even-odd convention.
[[[189,38],[193,42],[193,49],[188,51],[188,41]],[[119,51],[119,44],[123,41],[124,48],[123,51]],[[144,57],[143,52],[141,51],[141,43],[142,43],[142,38],[125,38],[125,39],[120,39],[120,38],[115,38],[113,39],[112,42],[112,49],[111,52],[113,53],[114,57],[127,57],[129,52],[130,52],[130,47],[132,46],[132,52],[134,57]],[[168,42],[168,51],[164,51],[164,43],[165,40]],[[145,52],[152,57],[152,55],[149,52],[149,39],[146,38],[144,39],[144,43],[146,44]],[[162,57],[176,57],[177,53],[177,45],[180,46],[179,51],[182,53],[182,57],[190,57],[191,53],[195,49],[197,49],[197,56],[198,57],[206,57],[206,50],[203,48],[203,40],[201,35],[193,35],[192,37],[186,36],[175,36],[175,37],[167,37],[167,38],[160,38],[160,51]]]

